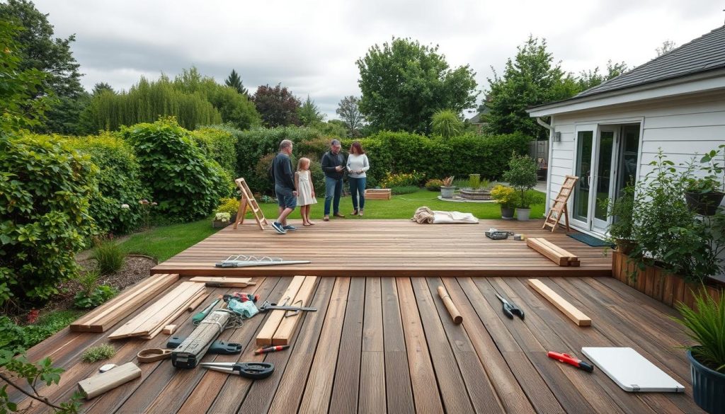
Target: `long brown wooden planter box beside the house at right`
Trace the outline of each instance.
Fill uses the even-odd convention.
[[[636,272],[634,278],[630,277]],[[639,269],[634,260],[629,260],[626,254],[612,252],[612,276],[618,281],[653,297],[666,305],[674,307],[677,302],[683,302],[689,307],[695,305],[693,291],[705,291],[713,299],[718,300],[725,294],[722,286],[686,283],[682,276],[668,273],[657,266],[647,266],[645,270]]]

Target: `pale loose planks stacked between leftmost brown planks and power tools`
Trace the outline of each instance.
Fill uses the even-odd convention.
[[[128,338],[130,336],[152,339],[161,333],[165,326],[185,312],[189,304],[206,294],[204,283],[179,283],[178,286],[153,305],[116,329],[108,336],[108,339]]]

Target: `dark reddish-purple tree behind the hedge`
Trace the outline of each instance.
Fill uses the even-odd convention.
[[[262,85],[252,98],[262,121],[269,127],[300,125],[298,111],[301,102],[287,87]]]

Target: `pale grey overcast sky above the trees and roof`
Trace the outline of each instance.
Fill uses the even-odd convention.
[[[529,34],[546,38],[564,70],[641,65],[723,25],[722,0],[36,0],[72,51],[83,86],[128,89],[192,65],[223,82],[282,83],[335,118],[359,95],[355,61],[392,36],[438,44],[451,67],[471,65],[479,89]],[[466,114],[467,117],[471,115]]]

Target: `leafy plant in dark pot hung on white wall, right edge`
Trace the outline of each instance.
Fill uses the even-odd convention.
[[[716,162],[721,152],[724,164]],[[700,171],[705,175],[687,180],[684,197],[697,214],[715,215],[725,197],[725,144],[705,154],[700,163],[704,164]]]

